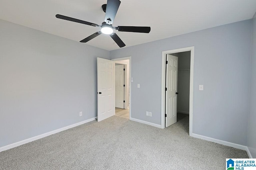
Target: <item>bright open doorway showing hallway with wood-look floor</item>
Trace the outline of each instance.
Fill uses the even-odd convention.
[[[131,57],[112,59],[115,62],[115,115],[130,119]]]

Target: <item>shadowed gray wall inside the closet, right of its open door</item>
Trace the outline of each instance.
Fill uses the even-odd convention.
[[[190,51],[178,54],[177,111],[189,113]]]

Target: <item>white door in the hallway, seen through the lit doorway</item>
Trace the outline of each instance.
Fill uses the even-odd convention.
[[[124,108],[124,65],[116,65],[116,107]]]

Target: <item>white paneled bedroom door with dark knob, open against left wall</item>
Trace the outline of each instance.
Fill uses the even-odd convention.
[[[97,58],[98,121],[115,113],[114,61]]]

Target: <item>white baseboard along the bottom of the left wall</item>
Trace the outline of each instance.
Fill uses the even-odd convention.
[[[19,141],[19,142],[16,142],[16,143],[12,143],[10,145],[6,145],[4,147],[0,147],[0,152],[4,151],[4,150],[8,150],[8,149],[12,149],[14,147],[18,147],[20,145],[23,145],[25,143],[29,143],[29,142],[32,142],[32,141],[35,141],[35,140],[38,140],[38,139],[41,139],[43,137],[47,137],[47,136],[50,136],[54,133],[58,133],[58,132],[61,132],[61,131],[65,131],[67,129],[70,129],[72,127],[76,127],[76,126],[79,126],[79,125],[82,125],[84,123],[88,123],[90,121],[94,121],[95,119],[97,119],[97,117],[93,117],[92,119],[87,119],[85,121],[81,121],[81,122],[78,122],[78,123],[75,123],[73,125],[69,125],[69,126],[66,126],[66,127],[62,127],[60,129],[56,129],[54,131],[50,131],[50,132],[47,132],[47,133],[44,133],[44,134],[41,134],[41,135],[38,135],[38,136],[35,136],[35,137],[32,137],[32,138],[29,138],[29,139],[25,139],[23,141]]]

